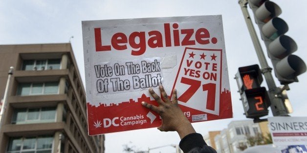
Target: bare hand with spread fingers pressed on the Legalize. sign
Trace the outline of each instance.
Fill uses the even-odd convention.
[[[185,135],[196,133],[190,121],[185,117],[177,102],[177,93],[173,91],[173,101],[169,99],[162,85],[159,86],[163,100],[149,89],[150,94],[154,97],[159,106],[154,106],[146,102],[142,105],[158,113],[162,118],[162,124],[158,127],[160,131],[176,131],[182,139]]]

